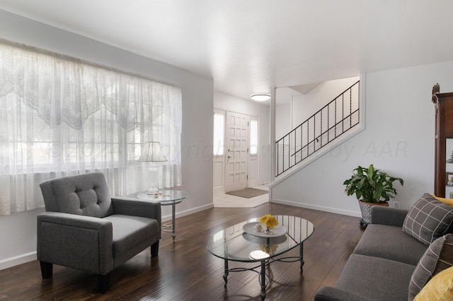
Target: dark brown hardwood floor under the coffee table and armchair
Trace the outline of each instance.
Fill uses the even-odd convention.
[[[360,218],[271,203],[177,218],[176,242],[163,232],[159,256],[151,259],[148,248],[116,268],[104,295],[97,293],[96,276],[54,266],[53,277],[42,279],[39,262],[32,261],[0,271],[0,300],[260,300],[257,273],[230,273],[224,287],[224,261],[207,252],[206,244],[215,232],[268,213],[300,216],[315,231],[304,242],[303,273],[298,262],[270,265],[266,300],[313,300],[321,285],[336,283],[362,236]]]

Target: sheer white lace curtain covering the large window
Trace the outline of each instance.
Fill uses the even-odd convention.
[[[168,160],[159,187],[181,185],[181,118],[180,88],[0,44],[0,215],[43,207],[39,184],[55,177],[100,171],[112,195],[146,189],[146,141]]]

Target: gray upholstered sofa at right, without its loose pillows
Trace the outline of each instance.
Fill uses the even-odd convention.
[[[428,246],[402,231],[407,213],[373,206],[371,224],[335,287],[319,288],[314,300],[408,300],[411,276]]]

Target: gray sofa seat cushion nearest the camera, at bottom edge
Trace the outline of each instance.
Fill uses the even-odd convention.
[[[408,300],[414,268],[398,261],[351,254],[335,287],[372,300]]]

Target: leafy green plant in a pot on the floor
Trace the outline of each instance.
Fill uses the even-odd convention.
[[[359,166],[352,171],[352,177],[345,180],[345,192],[348,196],[355,194],[359,201],[362,220],[360,225],[366,226],[371,222],[371,206],[389,206],[389,199],[396,196],[395,181],[404,184],[403,179],[391,177],[385,172],[374,169],[373,165],[368,168]]]

